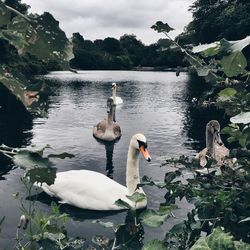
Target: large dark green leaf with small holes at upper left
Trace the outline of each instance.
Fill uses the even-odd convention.
[[[16,16],[2,36],[18,49],[20,55],[29,52],[45,62],[55,60],[65,68],[73,55],[59,23],[47,12],[32,16],[31,22]]]

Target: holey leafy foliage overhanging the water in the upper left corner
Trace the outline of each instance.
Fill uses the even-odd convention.
[[[27,14],[28,7],[19,0],[0,1],[0,82],[28,110],[45,115],[46,86],[32,76],[68,69],[72,49],[51,14]]]

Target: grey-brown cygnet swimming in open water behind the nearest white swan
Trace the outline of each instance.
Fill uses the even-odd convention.
[[[114,101],[111,98],[107,100],[108,118],[99,122],[93,128],[93,135],[99,140],[115,141],[121,137],[121,128],[115,121],[115,107]]]

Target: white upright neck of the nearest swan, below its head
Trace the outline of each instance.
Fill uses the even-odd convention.
[[[127,158],[126,186],[128,194],[132,195],[140,183],[139,175],[139,150],[129,146]],[[140,189],[141,190],[141,189]],[[137,190],[140,192],[140,190]]]

